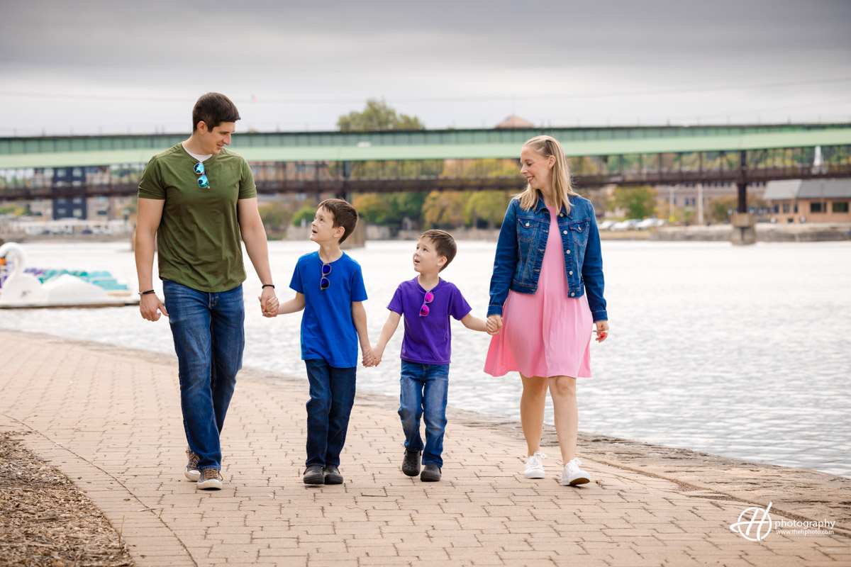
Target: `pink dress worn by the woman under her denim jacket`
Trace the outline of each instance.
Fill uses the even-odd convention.
[[[558,226],[552,207],[550,226]],[[538,291],[508,292],[502,309],[502,331],[490,339],[484,371],[504,376],[591,377],[591,332],[594,321],[585,294],[571,298],[564,271],[562,239],[550,230]]]

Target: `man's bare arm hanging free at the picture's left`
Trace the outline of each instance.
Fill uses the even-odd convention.
[[[163,218],[165,201],[161,199],[139,199],[136,206],[136,275],[139,278],[139,291],[147,292],[153,286],[154,241],[160,220]],[[142,319],[159,320],[162,311],[168,317],[165,305],[156,293],[147,293],[140,297],[139,312]]]

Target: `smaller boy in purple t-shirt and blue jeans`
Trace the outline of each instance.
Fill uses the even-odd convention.
[[[439,272],[455,257],[452,235],[445,230],[426,230],[417,241],[414,271],[419,275],[403,281],[393,294],[387,309],[390,315],[372,349],[375,364],[387,342],[396,332],[399,319],[405,317],[402,340],[402,394],[399,417],[405,433],[402,472],[420,474],[420,480],[440,480],[443,468],[443,431],[446,428],[446,400],[449,385],[449,355],[452,333],[449,316],[468,329],[487,332],[487,323],[470,314],[470,305],[452,283],[441,280]],[[420,417],[426,421],[426,445],[420,437]]]

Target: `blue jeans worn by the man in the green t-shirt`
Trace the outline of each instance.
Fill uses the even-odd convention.
[[[219,435],[243,367],[243,286],[199,292],[163,280],[165,308],[180,368],[180,409],[198,468],[221,468]]]

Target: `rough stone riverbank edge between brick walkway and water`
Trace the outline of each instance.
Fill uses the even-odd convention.
[[[4,331],[54,343],[75,343],[87,349],[146,362],[174,365],[175,374],[177,371],[177,357],[174,354],[46,333]],[[237,388],[240,381],[275,383],[282,388],[302,390],[306,382],[300,377],[253,367],[243,367],[237,377]],[[395,396],[362,389],[357,392],[356,404],[395,412],[398,401]],[[458,423],[466,427],[488,428],[514,440],[523,439],[520,423],[508,417],[461,410],[451,405],[447,417],[450,431],[452,423]],[[552,426],[545,425],[541,446],[549,450],[553,460],[558,459],[557,439]],[[768,506],[770,502],[772,510],[791,519],[836,521],[833,530],[837,534],[851,536],[851,479],[846,477],[581,432],[577,453],[580,458],[669,480],[679,485],[688,496],[748,502],[761,507]]]

